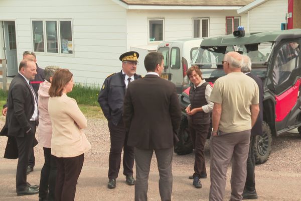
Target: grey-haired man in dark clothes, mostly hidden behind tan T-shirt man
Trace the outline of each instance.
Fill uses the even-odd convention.
[[[263,85],[262,81],[256,75],[251,73],[251,60],[248,56],[243,56],[243,65],[241,72],[245,73],[249,77],[253,78],[258,85],[259,89],[259,114],[254,126],[251,129],[250,147],[247,159],[247,178],[245,187],[242,193],[243,199],[257,199],[257,192],[255,189],[255,156],[254,156],[254,143],[257,135],[262,135],[262,119],[263,119]]]

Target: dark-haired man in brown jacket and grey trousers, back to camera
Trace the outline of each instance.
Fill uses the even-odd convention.
[[[163,55],[148,53],[144,66],[145,77],[129,83],[123,105],[124,126],[129,131],[127,144],[134,147],[136,161],[135,200],[147,200],[148,173],[154,151],[161,199],[171,200],[173,146],[181,108],[175,84],[160,78],[164,70]]]

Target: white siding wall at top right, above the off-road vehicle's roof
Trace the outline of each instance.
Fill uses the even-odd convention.
[[[269,0],[250,10],[250,32],[281,30],[285,23],[287,0]]]

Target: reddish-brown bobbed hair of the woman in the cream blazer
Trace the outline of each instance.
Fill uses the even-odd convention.
[[[64,86],[72,79],[72,76],[73,74],[66,68],[57,70],[49,88],[50,97],[62,96]]]

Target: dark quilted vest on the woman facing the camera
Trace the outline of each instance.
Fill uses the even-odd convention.
[[[205,82],[199,87],[190,87],[189,99],[191,110],[194,108],[201,108],[202,106],[208,104],[205,98],[205,90],[208,84],[208,82]],[[189,117],[189,121],[191,121],[192,124],[210,124],[210,113],[197,112],[196,114]]]

